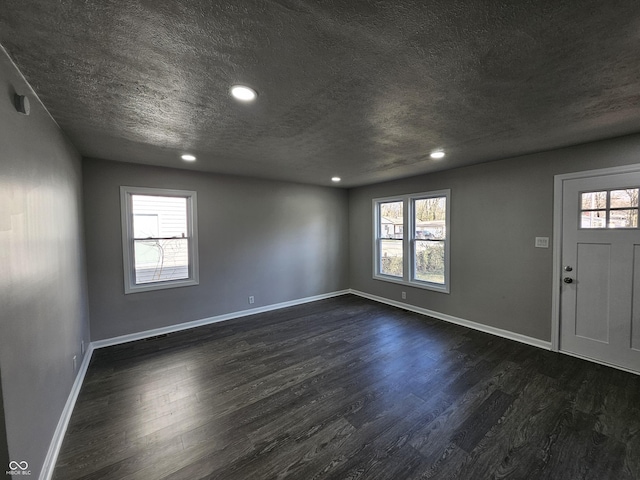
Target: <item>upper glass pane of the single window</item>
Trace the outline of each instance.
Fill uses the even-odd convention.
[[[132,195],[131,207],[135,238],[187,236],[187,199],[185,197]],[[152,221],[149,217],[152,216],[157,218],[155,235],[147,233]]]

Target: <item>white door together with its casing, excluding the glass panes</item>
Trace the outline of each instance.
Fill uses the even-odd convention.
[[[582,192],[638,186],[640,166],[556,177],[552,343],[640,373],[640,230],[580,226]]]

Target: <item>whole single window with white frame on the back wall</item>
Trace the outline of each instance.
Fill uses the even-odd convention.
[[[198,284],[196,192],[120,187],[125,293]]]

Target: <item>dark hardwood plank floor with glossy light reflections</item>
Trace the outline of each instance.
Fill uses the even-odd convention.
[[[347,295],[95,351],[54,478],[640,478],[640,376]]]

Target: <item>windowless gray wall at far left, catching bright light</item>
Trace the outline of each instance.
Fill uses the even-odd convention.
[[[40,473],[89,339],[81,161],[0,48],[0,369],[9,454]],[[0,466],[0,471],[5,468]]]

